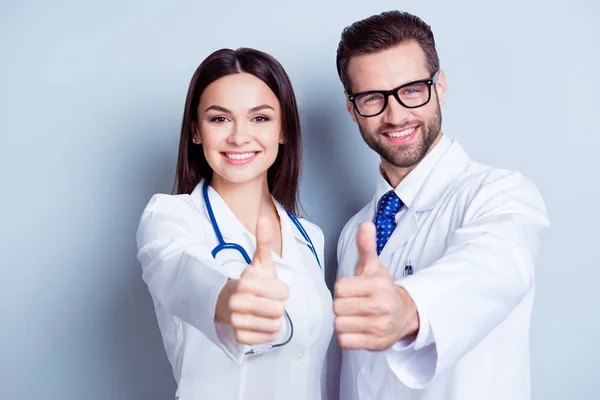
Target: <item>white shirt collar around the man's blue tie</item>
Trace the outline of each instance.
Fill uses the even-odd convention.
[[[375,191],[375,207],[377,202],[385,193],[394,190],[402,202],[411,208],[417,197],[417,194],[423,187],[427,177],[433,171],[437,162],[442,158],[446,150],[450,148],[452,141],[442,134],[440,141],[431,149],[429,153],[421,160],[419,164],[408,174],[402,182],[393,188],[383,176],[383,170],[380,167],[380,173],[377,179],[377,189]]]

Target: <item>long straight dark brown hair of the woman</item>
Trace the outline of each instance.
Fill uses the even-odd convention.
[[[271,195],[283,207],[296,213],[298,202],[298,178],[302,159],[302,138],[296,97],[290,79],[281,66],[269,54],[242,48],[221,49],[209,55],[196,69],[187,93],[174,193],[191,193],[200,179],[210,180],[210,168],[201,145],[192,143],[192,126],[198,118],[200,97],[208,85],[227,75],[246,72],[256,76],[271,88],[281,105],[281,128],[285,144],[279,145],[275,162],[267,172]]]

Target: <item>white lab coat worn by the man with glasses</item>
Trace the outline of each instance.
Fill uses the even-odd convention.
[[[381,177],[344,227],[339,277],[354,274],[358,226],[390,189]],[[412,296],[420,330],[386,351],[343,351],[340,398],[529,399],[534,263],[549,225],[536,187],[443,137],[395,191],[407,207],[380,260]]]

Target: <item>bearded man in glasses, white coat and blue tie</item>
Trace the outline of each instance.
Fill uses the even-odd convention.
[[[375,195],[338,243],[340,398],[529,399],[534,264],[549,225],[538,190],[442,133],[446,77],[418,17],[347,27],[337,67],[381,156]]]

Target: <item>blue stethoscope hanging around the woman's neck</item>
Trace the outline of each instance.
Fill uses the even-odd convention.
[[[221,230],[219,229],[219,224],[217,224],[217,220],[215,218],[215,213],[213,212],[212,206],[210,204],[210,199],[208,197],[208,187],[209,187],[208,181],[205,181],[204,185],[202,187],[202,195],[204,196],[204,204],[206,205],[206,211],[208,212],[208,217],[210,218],[210,223],[213,227],[213,231],[215,232],[215,236],[217,237],[217,240],[219,241],[219,244],[217,244],[217,246],[215,246],[215,248],[211,251],[213,258],[216,258],[217,254],[219,254],[219,252],[221,250],[235,250],[242,255],[242,257],[244,258],[244,261],[246,261],[246,264],[251,264],[252,259],[250,258],[250,256],[248,255],[248,253],[242,246],[240,246],[239,244],[236,244],[236,243],[227,243],[227,242],[225,242],[225,239],[223,239],[223,235],[221,234]],[[308,242],[308,248],[315,256],[315,259],[317,260],[317,264],[319,264],[319,268],[323,269],[323,267],[321,266],[321,262],[319,261],[319,256],[317,255],[317,250],[315,249],[315,246],[313,245],[312,240],[310,240],[310,236],[308,236],[308,233],[306,233],[306,230],[304,230],[304,227],[302,226],[300,221],[298,221],[298,218],[293,213],[287,211],[287,215],[290,217],[290,219],[292,220],[294,225],[296,225],[296,228],[298,228],[298,231],[300,231],[300,234],[302,235],[302,237]],[[287,320],[290,324],[290,335],[284,342],[277,343],[277,344],[269,344],[267,346],[267,348],[253,348],[253,349],[250,349],[249,351],[247,351],[245,354],[246,355],[258,354],[258,353],[262,353],[263,351],[267,351],[267,350],[270,350],[270,349],[276,348],[276,347],[282,347],[282,346],[285,346],[286,344],[288,344],[294,337],[294,324],[292,323],[292,319],[290,318],[287,310],[285,310],[285,317],[287,318]]]

